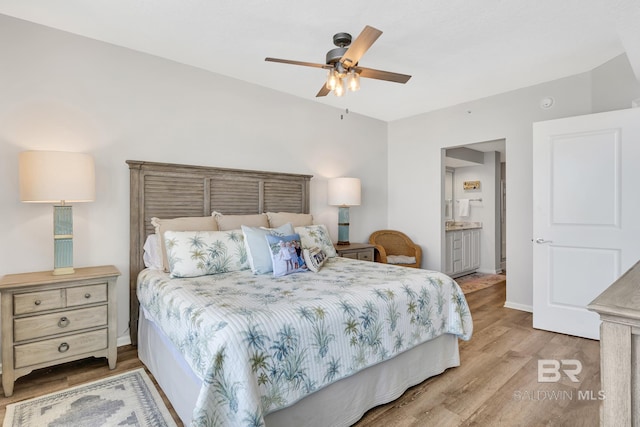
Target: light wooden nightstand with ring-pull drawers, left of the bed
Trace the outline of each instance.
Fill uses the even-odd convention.
[[[116,367],[116,280],[112,265],[8,274],[2,299],[2,387],[13,394],[17,378],[34,369],[106,357]]]

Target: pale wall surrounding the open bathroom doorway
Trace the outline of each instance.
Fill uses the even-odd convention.
[[[506,140],[507,300],[531,311],[532,124],[592,112],[592,93],[607,93],[607,106],[631,106],[640,89],[628,77],[628,61],[614,58],[591,72],[456,105],[389,124],[389,227],[405,230],[425,249],[423,264],[440,269],[444,246],[442,148]],[[628,82],[618,87],[617,76]],[[637,82],[636,82],[637,83]],[[552,96],[551,109],[540,100]],[[599,108],[606,108],[604,100]],[[412,205],[407,209],[408,204]]]

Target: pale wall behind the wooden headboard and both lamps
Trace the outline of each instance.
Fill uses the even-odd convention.
[[[311,212],[337,237],[326,179],[362,180],[351,240],[387,225],[387,124],[0,15],[0,275],[53,267],[53,208],[23,204],[18,153],[87,152],[97,200],[74,206],[74,264],[114,264],[128,339],[129,170],[148,160],[313,174]]]

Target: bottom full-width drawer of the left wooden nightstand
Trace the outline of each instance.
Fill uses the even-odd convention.
[[[107,328],[104,328],[77,335],[17,345],[14,349],[14,366],[16,369],[23,368],[102,350],[107,348],[107,337]]]

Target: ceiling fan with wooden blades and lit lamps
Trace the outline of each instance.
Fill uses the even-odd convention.
[[[395,83],[406,83],[411,76],[389,71],[374,70],[373,68],[365,68],[358,65],[358,61],[360,61],[362,55],[369,50],[381,34],[382,31],[369,25],[364,27],[360,35],[356,37],[353,42],[351,40],[351,34],[335,34],[333,36],[333,44],[337,47],[327,52],[325,64],[278,58],[265,58],[264,60],[329,70],[327,81],[322,88],[320,88],[316,97],[326,96],[331,91],[333,91],[336,96],[342,96],[345,92],[345,79],[346,86],[351,91],[360,89],[360,77],[386,80]]]

